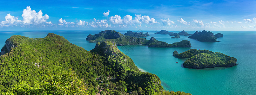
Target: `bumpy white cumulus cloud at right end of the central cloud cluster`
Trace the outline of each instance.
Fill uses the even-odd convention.
[[[145,23],[157,23],[155,21],[154,18],[150,18],[149,16],[141,16],[141,15],[135,15],[135,22],[141,23],[141,22],[145,22]]]

